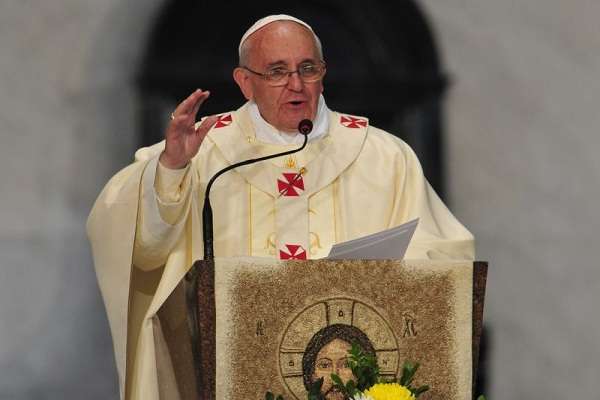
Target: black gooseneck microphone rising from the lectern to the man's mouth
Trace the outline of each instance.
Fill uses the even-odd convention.
[[[225,172],[235,169],[237,167],[241,167],[244,165],[254,164],[260,161],[269,160],[271,158],[286,156],[289,154],[293,154],[301,151],[306,147],[306,143],[308,142],[308,134],[312,131],[313,123],[310,119],[303,119],[298,123],[298,132],[304,135],[304,142],[302,146],[294,150],[284,151],[282,153],[271,154],[264,157],[252,158],[249,160],[240,161],[235,164],[231,164],[222,170],[218,171],[213,175],[212,178],[208,181],[206,185],[206,192],[204,194],[204,207],[202,208],[202,233],[203,233],[203,242],[204,242],[204,260],[213,260],[214,259],[214,248],[213,248],[213,214],[212,207],[210,205],[210,189],[212,188],[215,180],[223,175]]]

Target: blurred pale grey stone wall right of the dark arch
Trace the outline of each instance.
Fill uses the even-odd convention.
[[[600,3],[423,1],[452,208],[490,261],[491,399],[597,398]]]

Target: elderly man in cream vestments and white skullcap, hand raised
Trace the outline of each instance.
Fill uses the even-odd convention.
[[[202,257],[207,181],[237,161],[298,147],[302,119],[314,122],[303,151],[216,182],[216,256],[319,258],[336,242],[414,218],[408,258],[474,256],[473,237],[433,192],[412,150],[364,117],[327,108],[326,66],[310,26],[285,15],[263,18],[243,36],[239,54],[233,77],[248,102],[195,123],[209,96],[196,90],[174,110],[165,141],[139,150],[90,214],[122,397],[159,396],[152,317]]]

